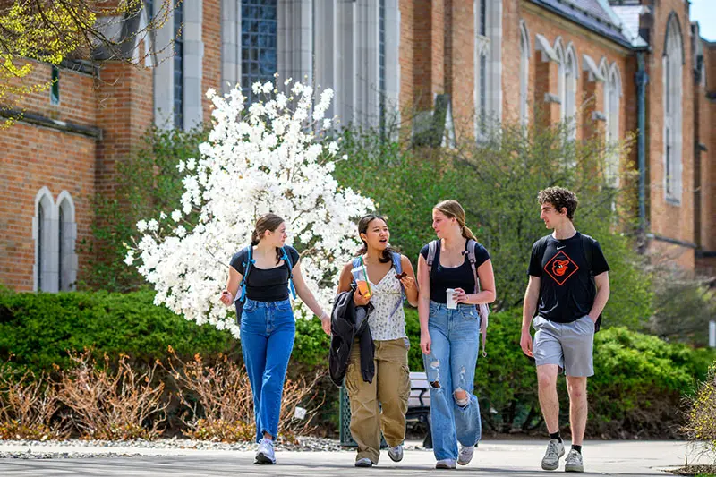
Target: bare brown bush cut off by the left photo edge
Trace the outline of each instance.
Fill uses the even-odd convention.
[[[0,439],[64,439],[69,428],[57,416],[56,388],[44,375],[0,366]]]

